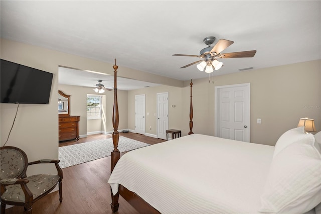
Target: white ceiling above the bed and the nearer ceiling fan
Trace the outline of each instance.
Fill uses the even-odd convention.
[[[172,55],[199,55],[207,36],[235,42],[223,53],[257,50],[253,58],[221,59],[224,66],[214,75],[320,59],[320,3],[1,1],[1,37],[111,64],[116,58],[119,67],[189,80],[208,74],[196,65],[180,69],[198,58]],[[63,84],[95,85],[97,79],[64,78]],[[103,80],[108,86],[108,78]]]

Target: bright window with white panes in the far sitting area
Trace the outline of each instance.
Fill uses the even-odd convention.
[[[87,95],[87,120],[101,119],[101,96]]]

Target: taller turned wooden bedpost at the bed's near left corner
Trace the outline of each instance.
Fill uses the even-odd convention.
[[[118,141],[119,141],[119,132],[118,132],[118,124],[119,124],[119,113],[118,113],[118,101],[117,101],[117,68],[116,65],[116,59],[115,59],[115,65],[112,66],[114,68],[114,108],[112,113],[112,125],[114,127],[114,132],[112,133],[112,142],[114,144],[114,150],[111,152],[111,158],[110,158],[110,173],[114,169],[117,161],[120,158],[120,152],[117,149],[118,147]],[[118,211],[119,203],[119,192],[117,192],[115,195],[113,195],[111,187],[111,210],[113,212]]]

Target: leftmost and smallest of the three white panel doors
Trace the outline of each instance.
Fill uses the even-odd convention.
[[[135,95],[135,132],[145,134],[145,94]]]

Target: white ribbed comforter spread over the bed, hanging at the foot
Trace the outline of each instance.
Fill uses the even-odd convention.
[[[124,154],[108,183],[161,213],[257,213],[273,151],[194,134]]]

